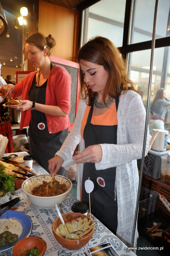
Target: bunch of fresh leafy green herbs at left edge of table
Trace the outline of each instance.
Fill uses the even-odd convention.
[[[5,166],[1,165],[0,168],[0,190],[2,191],[2,196],[5,196],[7,192],[11,192],[11,195],[14,196],[13,191],[15,190],[15,182],[14,178],[16,177],[16,174],[14,175],[8,175],[4,172]],[[9,200],[12,199],[12,196],[10,196]]]

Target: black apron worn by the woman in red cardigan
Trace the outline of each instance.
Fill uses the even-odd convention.
[[[52,63],[51,63],[52,69]],[[38,79],[37,79],[38,80]],[[32,86],[29,91],[29,100],[35,101],[40,104],[45,104],[46,102],[46,86],[47,80],[42,86],[36,86],[36,75],[32,81]],[[60,92],[58,92],[60,93]],[[31,111],[30,120],[30,155],[40,164],[47,172],[48,170],[48,160],[53,158],[56,152],[61,148],[66,136],[68,135],[68,128],[50,134],[48,132],[46,115],[38,110]],[[60,168],[59,175],[64,174],[64,168]],[[65,172],[64,176],[68,176],[68,171]]]

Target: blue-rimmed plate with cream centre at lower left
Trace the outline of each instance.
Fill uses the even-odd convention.
[[[8,210],[0,217],[0,233],[9,231],[12,234],[18,235],[18,242],[20,239],[25,238],[31,234],[32,222],[30,218],[17,211]],[[14,245],[6,245],[0,248],[0,252],[8,250],[14,247]]]

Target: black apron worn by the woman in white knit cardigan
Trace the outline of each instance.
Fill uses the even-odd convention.
[[[116,110],[119,99],[116,98]],[[95,144],[117,144],[117,125],[103,126],[91,124],[94,103],[90,108],[86,126],[84,128],[85,148]],[[110,117],[111,118],[111,117]],[[89,195],[84,188],[86,180],[92,180],[94,190],[90,193],[91,212],[112,232],[117,229],[117,200],[114,200],[116,167],[96,170],[94,163],[85,163],[82,179],[82,202],[89,205]]]

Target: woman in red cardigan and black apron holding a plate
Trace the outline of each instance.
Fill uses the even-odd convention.
[[[50,62],[50,52],[56,41],[39,32],[26,39],[25,49],[34,68],[15,86],[7,85],[6,95],[12,92],[13,98],[22,95],[18,106],[22,111],[20,129],[29,126],[30,155],[48,171],[48,160],[60,149],[70,124],[71,77],[65,68]],[[13,107],[16,108],[16,107]],[[63,170],[62,170],[63,169]],[[64,168],[59,174],[63,174]]]

